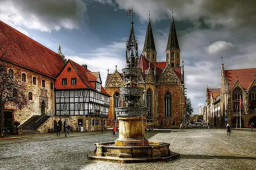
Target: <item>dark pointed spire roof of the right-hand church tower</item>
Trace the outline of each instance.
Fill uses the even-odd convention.
[[[173,15],[172,15],[172,24],[171,24],[171,28],[170,28],[170,32],[169,32],[169,38],[168,38],[168,42],[167,42],[166,51],[171,50],[171,49],[179,49],[180,50]]]

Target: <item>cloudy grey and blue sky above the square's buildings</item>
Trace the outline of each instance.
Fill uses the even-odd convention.
[[[256,67],[255,0],[0,0],[0,20],[91,71],[105,83],[125,66],[125,43],[134,28],[143,50],[150,10],[157,61],[165,49],[174,9],[185,65],[185,83],[195,113],[205,104],[206,87],[219,88],[221,57],[225,69]]]

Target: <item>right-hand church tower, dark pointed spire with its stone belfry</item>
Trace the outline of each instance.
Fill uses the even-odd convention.
[[[166,47],[166,64],[170,62],[172,67],[180,66],[180,47],[176,34],[175,23],[173,19],[173,11],[172,11],[172,23],[169,32],[169,38]]]

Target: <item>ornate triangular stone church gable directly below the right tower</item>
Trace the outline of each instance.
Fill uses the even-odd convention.
[[[158,85],[179,85],[180,80],[173,71],[171,65],[167,65],[166,68],[163,70],[158,82]]]

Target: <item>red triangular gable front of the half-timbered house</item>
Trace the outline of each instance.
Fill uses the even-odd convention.
[[[67,68],[70,68],[70,71],[67,71]],[[67,78],[67,85],[62,85],[62,79]],[[76,78],[76,85],[71,85],[71,78]],[[84,82],[81,80],[77,74],[75,68],[71,65],[70,61],[67,62],[61,73],[55,80],[56,90],[60,89],[79,89],[79,88],[88,88],[84,85]]]

